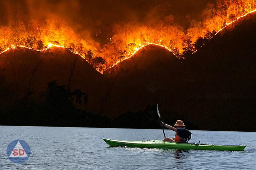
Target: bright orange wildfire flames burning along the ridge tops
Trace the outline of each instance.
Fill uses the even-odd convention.
[[[191,51],[195,52],[197,49],[192,47],[193,43],[206,36],[207,32],[215,31],[216,35],[227,25],[255,11],[256,1],[224,0],[215,6],[208,3],[201,18],[190,19],[190,27],[186,31],[182,26],[173,23],[173,16],[168,15],[157,25],[116,24],[113,26],[113,36],[103,45],[94,40],[82,39],[67,23],[60,20],[17,20],[12,25],[0,27],[0,54],[17,47],[36,51],[44,51],[52,46],[62,47],[80,55],[98,72],[103,73],[132,57],[148,44],[160,45],[177,58],[182,58],[188,48],[186,45],[190,44]]]

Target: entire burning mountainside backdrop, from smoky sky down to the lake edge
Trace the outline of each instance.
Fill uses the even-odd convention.
[[[1,2],[1,125],[255,121],[256,0]]]

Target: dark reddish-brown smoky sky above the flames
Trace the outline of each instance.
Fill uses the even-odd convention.
[[[17,12],[30,17],[51,17],[55,14],[66,20],[78,33],[91,29],[96,20],[105,25],[145,22],[157,17],[156,7],[166,8],[164,15],[174,15],[182,25],[187,14],[199,13],[208,0],[1,0],[0,22],[7,25]],[[212,1],[211,1],[212,2]]]

